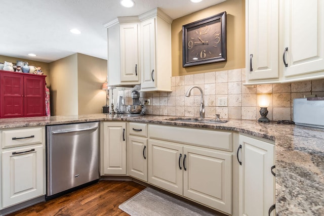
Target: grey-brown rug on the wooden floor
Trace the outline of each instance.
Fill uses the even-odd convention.
[[[152,188],[144,189],[118,207],[131,216],[215,216],[215,214]]]

